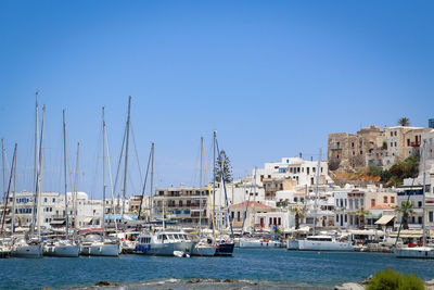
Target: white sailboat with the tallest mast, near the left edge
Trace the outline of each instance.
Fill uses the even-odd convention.
[[[35,197],[31,216],[30,232],[26,236],[15,236],[12,239],[12,255],[17,257],[42,257],[42,242],[40,239],[40,193],[43,160],[43,126],[46,119],[46,106],[42,108],[42,127],[38,146],[38,92],[36,92],[36,129],[35,129]],[[37,235],[35,236],[35,224]]]

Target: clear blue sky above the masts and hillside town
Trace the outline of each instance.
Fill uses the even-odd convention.
[[[30,190],[34,92],[47,105],[43,190],[62,191],[62,109],[79,189],[101,196],[101,106],[116,168],[127,99],[142,172],[199,184],[200,137],[234,176],[329,133],[434,117],[432,1],[1,1],[0,137]],[[141,181],[131,141],[128,194]],[[73,162],[74,163],[74,162]],[[74,164],[73,164],[74,166]],[[99,167],[99,169],[97,169]]]

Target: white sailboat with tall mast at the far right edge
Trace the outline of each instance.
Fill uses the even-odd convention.
[[[422,217],[422,231],[423,231],[423,240],[422,240],[422,245],[421,247],[413,247],[413,248],[395,248],[394,249],[394,254],[396,257],[416,257],[416,259],[434,259],[434,248],[433,247],[427,247],[426,245],[426,225],[425,225],[425,193],[426,193],[426,155],[425,155],[425,150],[426,149],[426,140],[423,140],[423,148],[422,148],[422,157],[423,157],[423,201],[422,201],[422,211],[423,211],[423,217]],[[410,199],[410,194],[408,196],[408,199]],[[407,201],[408,204],[409,200]],[[403,219],[404,219],[403,214]],[[403,224],[403,223],[401,223]],[[399,226],[400,229],[400,226]],[[396,238],[398,240],[398,237]]]

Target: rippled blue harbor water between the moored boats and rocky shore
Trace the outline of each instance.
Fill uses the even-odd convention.
[[[119,257],[3,259],[0,260],[1,289],[81,288],[101,280],[123,289],[196,289],[189,279],[231,279],[267,285],[271,289],[332,289],[348,281],[361,281],[376,270],[394,268],[434,278],[434,261],[396,259],[381,253],[298,252],[235,249],[233,257],[165,257],[122,255]],[[237,282],[235,282],[237,285]],[[208,286],[208,287],[204,287]],[[216,285],[215,285],[216,286]],[[115,287],[116,288],[116,287]],[[120,287],[117,287],[120,288]],[[229,283],[200,288],[231,289]],[[199,288],[197,288],[199,289]]]

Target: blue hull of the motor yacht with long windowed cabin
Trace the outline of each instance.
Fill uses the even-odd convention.
[[[179,241],[166,243],[136,243],[135,253],[143,255],[165,255],[173,256],[175,251],[190,254],[194,242]]]

